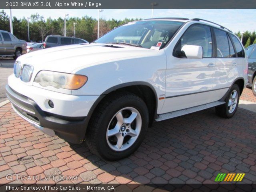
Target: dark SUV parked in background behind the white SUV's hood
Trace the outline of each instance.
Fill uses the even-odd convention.
[[[44,48],[89,43],[88,41],[75,37],[65,37],[60,35],[48,35],[44,41]]]

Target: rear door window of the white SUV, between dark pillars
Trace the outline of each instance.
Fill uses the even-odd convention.
[[[217,57],[228,58],[230,57],[230,46],[228,44],[228,36],[226,32],[214,28],[214,33],[217,43]]]

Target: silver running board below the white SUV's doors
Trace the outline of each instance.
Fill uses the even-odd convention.
[[[170,112],[170,113],[160,114],[159,118],[157,118],[155,120],[156,121],[163,121],[163,120],[166,120],[166,119],[171,119],[171,118],[174,118],[174,117],[194,113],[194,112],[197,112],[197,111],[201,111],[201,110],[208,109],[208,108],[215,107],[215,106],[222,105],[222,104],[225,104],[225,102],[224,101],[215,101],[215,102],[204,104],[204,105],[199,105],[199,106],[195,106],[195,107],[191,107],[191,108],[186,108],[186,109],[182,109],[182,110],[178,110],[178,111],[174,111],[174,112]]]

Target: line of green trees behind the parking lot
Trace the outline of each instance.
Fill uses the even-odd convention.
[[[117,26],[126,24],[131,21],[142,20],[141,18],[124,20],[104,20],[100,19],[100,36],[106,32],[114,29]],[[0,12],[0,30],[10,31],[10,20],[8,15],[2,10]],[[66,36],[74,36],[74,22],[76,24],[76,37],[85,39],[92,42],[97,39],[98,33],[98,20],[89,16],[83,16],[82,18],[70,17],[66,19]],[[18,19],[12,18],[14,35],[22,40],[28,40],[28,21],[26,18]],[[47,18],[39,14],[32,14],[29,20],[30,40],[34,42],[44,41],[47,35],[64,35],[64,19],[59,17],[58,19]],[[241,39],[241,32],[235,33]],[[244,47],[248,47],[251,44],[256,43],[256,32],[246,31],[243,34],[242,44]]]

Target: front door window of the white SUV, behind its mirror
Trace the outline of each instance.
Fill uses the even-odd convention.
[[[180,52],[184,45],[201,46],[203,48],[203,57],[212,57],[212,35],[210,27],[192,25],[180,38],[175,52]]]

